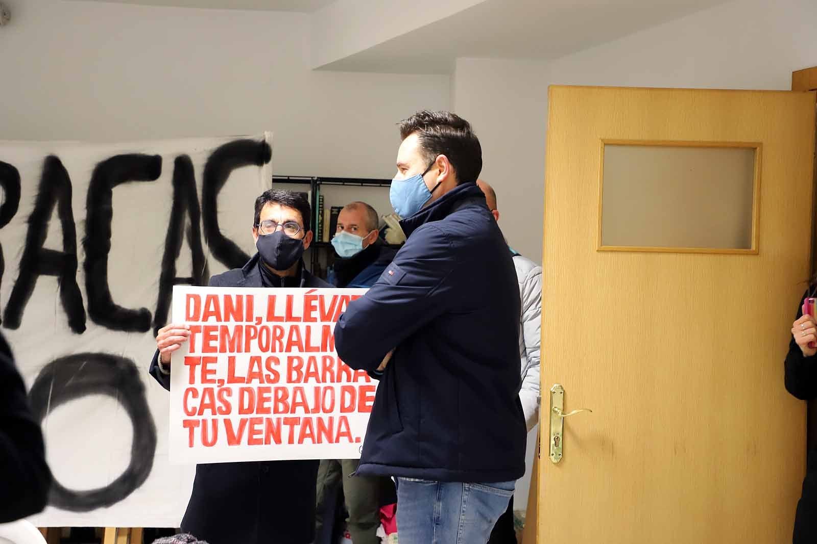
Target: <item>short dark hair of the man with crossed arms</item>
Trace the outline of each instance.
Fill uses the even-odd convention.
[[[450,112],[417,112],[400,122],[400,139],[417,133],[426,160],[445,155],[460,184],[474,183],[482,171],[482,147],[471,123]]]

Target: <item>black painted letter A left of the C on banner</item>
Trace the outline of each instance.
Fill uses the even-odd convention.
[[[57,207],[62,227],[62,251],[42,247],[54,206]],[[77,285],[77,228],[74,211],[71,210],[71,179],[59,157],[50,155],[43,163],[42,178],[28,223],[20,274],[3,313],[4,325],[8,329],[20,327],[25,305],[29,302],[38,276],[57,276],[60,302],[68,315],[68,325],[75,333],[81,334],[85,331],[85,307]]]

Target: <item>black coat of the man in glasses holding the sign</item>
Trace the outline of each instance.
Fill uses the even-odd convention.
[[[301,265],[301,287],[332,287]],[[256,254],[243,268],[212,276],[212,287],[263,287]],[[170,377],[150,374],[167,390]],[[181,529],[209,544],[307,544],[315,535],[319,461],[222,462],[196,467]]]

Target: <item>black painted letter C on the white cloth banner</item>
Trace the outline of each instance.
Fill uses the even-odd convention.
[[[161,173],[162,157],[132,154],[117,155],[100,162],[91,176],[86,203],[86,233],[83,240],[85,290],[88,297],[88,315],[95,323],[109,329],[127,332],[150,330],[150,311],[147,308],[131,310],[118,306],[111,298],[108,284],[108,254],[111,221],[114,218],[114,187],[131,181],[155,181]],[[125,213],[145,211],[150,210],[126,210]],[[133,263],[133,266],[144,266],[144,263]]]

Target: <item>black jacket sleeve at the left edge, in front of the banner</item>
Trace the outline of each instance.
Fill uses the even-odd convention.
[[[45,508],[51,489],[42,431],[29,408],[23,378],[0,337],[0,523]]]

